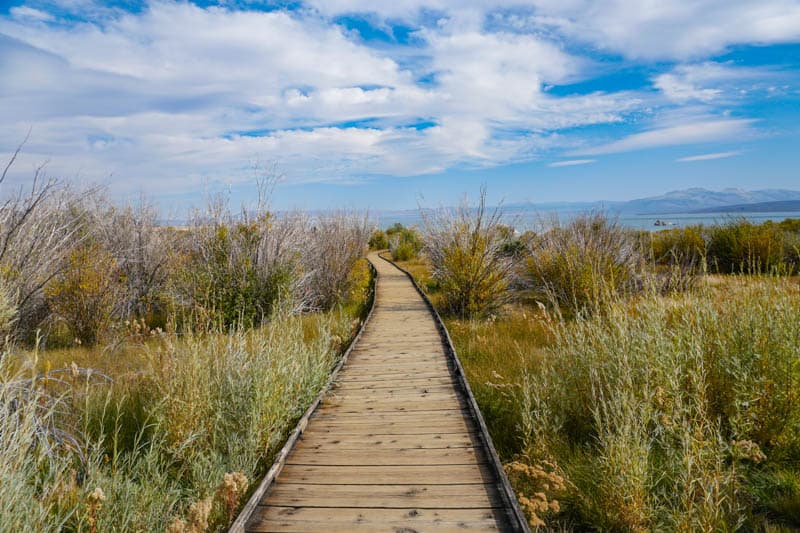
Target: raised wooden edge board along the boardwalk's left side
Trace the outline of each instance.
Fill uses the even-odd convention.
[[[367,261],[367,264],[369,265],[372,280],[370,281],[370,288],[369,288],[369,298],[370,298],[369,312],[367,313],[366,318],[361,323],[361,326],[358,328],[358,332],[356,333],[356,335],[350,341],[350,345],[347,347],[347,350],[345,350],[344,354],[342,354],[342,357],[339,359],[339,363],[333,369],[333,372],[331,372],[331,375],[328,378],[328,381],[325,383],[325,386],[319,392],[314,401],[311,402],[311,405],[308,407],[308,409],[306,409],[306,412],[303,413],[303,416],[297,422],[297,425],[295,426],[294,431],[292,431],[292,433],[289,435],[289,438],[286,439],[286,443],[283,445],[283,448],[281,448],[281,450],[278,452],[278,455],[275,457],[275,461],[272,463],[272,467],[270,467],[267,474],[261,480],[261,483],[259,484],[258,488],[256,488],[256,490],[250,496],[250,499],[247,500],[247,503],[239,512],[239,516],[236,518],[233,524],[231,524],[231,527],[228,530],[229,533],[245,533],[245,526],[247,525],[247,522],[250,520],[253,511],[256,510],[256,508],[258,507],[258,503],[264,498],[264,495],[267,493],[267,490],[272,486],[272,484],[275,482],[275,479],[277,479],[278,475],[283,470],[283,467],[286,465],[286,460],[289,457],[289,453],[294,449],[295,445],[297,444],[297,440],[305,431],[306,426],[308,426],[308,421],[311,419],[311,415],[314,414],[314,411],[317,410],[317,407],[319,407],[325,395],[327,395],[328,392],[330,392],[331,387],[333,386],[333,383],[336,380],[336,376],[339,374],[339,371],[347,362],[348,357],[350,357],[350,353],[358,344],[358,341],[361,338],[361,335],[364,333],[364,330],[366,329],[370,318],[372,318],[372,313],[373,311],[375,311],[375,301],[377,300],[376,288],[378,284],[378,271],[375,270],[375,267],[369,261]]]

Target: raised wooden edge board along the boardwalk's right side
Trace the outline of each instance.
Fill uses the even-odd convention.
[[[383,254],[381,254],[379,257],[384,261],[391,263],[395,268],[408,276],[408,278],[411,280],[411,283],[414,285],[414,288],[425,301],[425,305],[428,307],[428,310],[433,315],[433,318],[436,321],[436,326],[439,329],[439,333],[444,340],[445,352],[453,362],[453,371],[455,372],[458,384],[461,386],[461,389],[467,398],[467,407],[472,414],[473,419],[478,424],[478,435],[480,436],[480,439],[489,455],[489,466],[494,471],[499,481],[498,484],[500,485],[501,489],[500,496],[503,498],[504,503],[507,506],[506,509],[508,511],[509,524],[513,531],[530,533],[531,530],[528,526],[528,520],[525,517],[525,513],[522,511],[522,508],[519,506],[517,496],[514,493],[514,489],[511,487],[511,482],[508,481],[508,476],[506,476],[505,469],[503,469],[503,463],[500,461],[500,456],[497,455],[497,450],[495,449],[492,438],[489,435],[489,429],[486,427],[486,422],[483,420],[483,415],[478,408],[478,403],[475,401],[475,396],[473,396],[472,389],[467,382],[467,376],[464,373],[464,368],[461,366],[461,361],[458,358],[455,346],[453,346],[453,340],[450,338],[450,332],[447,331],[447,327],[444,325],[444,320],[442,320],[442,317],[433,306],[433,303],[431,303],[428,295],[425,294],[425,291],[422,290],[422,287],[419,286],[417,280],[414,279],[414,276],[408,270],[399,266],[391,259],[384,257]]]

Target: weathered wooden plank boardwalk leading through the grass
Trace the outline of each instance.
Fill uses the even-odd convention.
[[[232,531],[527,530],[435,315],[402,271],[369,259],[360,339]]]

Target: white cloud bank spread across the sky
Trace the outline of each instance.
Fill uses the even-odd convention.
[[[341,181],[717,142],[756,127],[730,106],[776,74],[707,58],[798,40],[800,6],[779,0],[36,0],[0,16],[0,152],[33,127],[20,179],[49,159],[160,193],[249,179],[254,159]],[[609,57],[668,66],[637,89],[570,89]]]

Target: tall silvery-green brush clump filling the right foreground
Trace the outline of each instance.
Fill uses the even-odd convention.
[[[526,455],[571,487],[564,513],[608,530],[733,530],[764,510],[798,525],[797,316],[797,285],[770,278],[554,323],[520,405]]]

